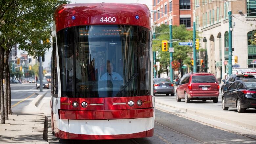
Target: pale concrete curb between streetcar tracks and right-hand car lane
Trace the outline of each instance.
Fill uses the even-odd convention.
[[[235,121],[235,120],[223,118],[223,117],[220,117],[220,116],[215,116],[215,115],[211,115],[211,114],[202,113],[202,112],[199,112],[199,111],[196,111],[196,110],[176,107],[176,106],[164,104],[164,103],[157,102],[157,101],[155,101],[155,102],[159,103],[159,104],[162,104],[162,105],[166,105],[166,106],[170,106],[170,107],[176,108],[179,111],[185,111],[186,113],[192,113],[192,114],[195,114],[195,115],[198,115],[198,116],[201,116],[201,117],[205,117],[205,118],[221,121],[221,122],[228,123],[228,124],[234,124],[234,125],[237,125],[237,126],[240,126],[240,127],[244,127],[244,128],[256,131],[256,126],[255,125],[250,125],[250,124],[243,123],[243,122],[240,122],[240,121]]]

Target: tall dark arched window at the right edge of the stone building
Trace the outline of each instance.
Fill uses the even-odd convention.
[[[253,65],[251,65],[250,63],[256,59],[256,45],[252,44],[251,41],[254,41],[254,36],[253,34],[255,33],[256,30],[250,31],[247,33],[247,37],[248,37],[248,67],[252,68]],[[255,67],[255,65],[254,65]]]

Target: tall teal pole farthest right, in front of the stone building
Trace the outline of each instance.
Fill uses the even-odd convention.
[[[226,2],[227,4],[227,2]],[[232,12],[231,12],[231,1],[229,1],[229,11],[228,11],[228,17],[229,17],[229,33],[228,33],[228,73],[229,75],[232,74]]]

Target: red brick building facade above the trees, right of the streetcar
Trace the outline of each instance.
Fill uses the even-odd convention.
[[[192,4],[190,0],[153,0],[153,10],[172,16],[172,25],[184,24],[187,29],[192,30]],[[164,14],[153,12],[153,23],[169,25]]]

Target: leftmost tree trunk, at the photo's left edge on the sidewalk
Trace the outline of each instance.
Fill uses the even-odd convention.
[[[4,90],[3,90],[3,72],[4,72],[4,48],[0,47],[0,124],[5,123],[4,119]]]

